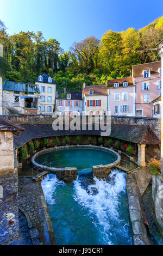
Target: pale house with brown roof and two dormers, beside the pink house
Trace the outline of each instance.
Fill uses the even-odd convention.
[[[133,78],[108,80],[108,89],[111,114],[135,116],[136,88],[133,85]]]

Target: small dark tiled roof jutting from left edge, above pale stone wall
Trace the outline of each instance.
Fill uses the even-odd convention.
[[[19,133],[24,132],[25,129],[0,116],[0,131],[11,131],[15,135],[19,135]]]

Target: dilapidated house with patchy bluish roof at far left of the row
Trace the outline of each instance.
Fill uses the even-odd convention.
[[[3,108],[16,113],[40,114],[40,88],[38,84],[4,81]]]

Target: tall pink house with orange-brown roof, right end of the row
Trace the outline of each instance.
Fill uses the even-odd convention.
[[[132,73],[136,85],[136,115],[152,117],[151,102],[161,95],[161,61],[134,65]]]

